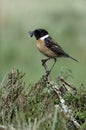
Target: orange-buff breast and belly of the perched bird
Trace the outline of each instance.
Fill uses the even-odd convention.
[[[37,40],[37,48],[39,49],[40,52],[42,52],[44,55],[48,57],[57,57],[57,55],[53,51],[51,51],[45,46],[45,43],[43,40],[40,40],[40,39]]]

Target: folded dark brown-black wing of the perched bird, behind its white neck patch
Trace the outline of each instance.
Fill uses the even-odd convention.
[[[51,37],[45,38],[45,45],[59,57],[70,57]]]

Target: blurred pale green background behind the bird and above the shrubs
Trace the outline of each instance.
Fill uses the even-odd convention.
[[[14,67],[26,73],[26,83],[35,83],[44,74],[35,38],[28,31],[45,28],[72,57],[58,59],[55,78],[71,69],[69,80],[86,84],[86,0],[2,0],[0,17],[0,82]],[[51,66],[52,61],[50,61]]]

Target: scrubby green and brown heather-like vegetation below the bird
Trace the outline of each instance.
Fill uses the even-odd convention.
[[[57,95],[46,84],[44,76],[34,85],[26,87],[24,75],[19,70],[12,70],[8,74],[6,85],[0,86],[0,124],[17,130],[76,130],[57,107]],[[64,86],[60,84],[59,89]],[[80,86],[77,91],[65,91],[62,95],[80,123],[80,130],[85,130],[86,88]]]

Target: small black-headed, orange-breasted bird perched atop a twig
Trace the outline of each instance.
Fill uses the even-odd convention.
[[[42,65],[44,65],[48,60],[54,59],[54,63],[51,69],[48,71],[48,74],[50,74],[51,70],[53,69],[57,58],[66,57],[78,62],[78,60],[71,57],[63,50],[63,48],[50,36],[47,30],[38,28],[34,31],[30,31],[29,35],[36,38],[36,45],[38,50],[47,57],[47,59],[41,60]]]

